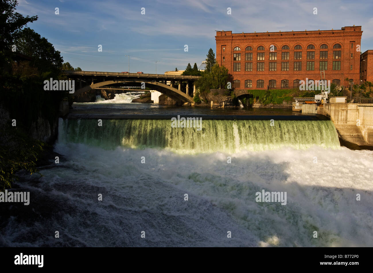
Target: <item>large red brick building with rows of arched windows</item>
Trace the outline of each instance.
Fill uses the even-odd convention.
[[[261,33],[216,32],[216,63],[238,89],[293,88],[306,78],[360,82],[361,26],[341,30]]]

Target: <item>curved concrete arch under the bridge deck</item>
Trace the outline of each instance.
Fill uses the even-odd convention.
[[[149,81],[149,80],[140,80],[140,79],[121,79],[121,80],[107,80],[104,82],[99,82],[99,83],[94,83],[93,85],[85,86],[81,89],[76,90],[72,95],[76,96],[81,93],[90,91],[91,89],[94,88],[100,88],[101,86],[105,85],[111,85],[113,83],[125,83],[125,82],[136,82],[136,83],[145,83],[145,87],[150,87],[153,88],[154,90],[157,90],[161,92],[162,94],[169,96],[170,98],[174,99],[175,101],[182,101],[182,102],[193,102],[193,98],[180,90],[173,88],[169,85],[166,85],[164,83],[160,82],[154,82],[154,81]]]

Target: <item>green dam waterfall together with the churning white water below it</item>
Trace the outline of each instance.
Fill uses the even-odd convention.
[[[335,149],[331,121],[170,123],[60,119],[44,176],[20,174],[30,204],[12,205],[0,245],[372,247],[373,152]],[[262,190],[286,205],[258,203]]]

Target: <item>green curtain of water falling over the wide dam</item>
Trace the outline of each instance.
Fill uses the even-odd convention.
[[[161,148],[178,153],[270,150],[283,146],[339,147],[332,121],[203,120],[202,130],[172,128],[170,120],[62,120],[60,143],[84,143],[114,149]]]

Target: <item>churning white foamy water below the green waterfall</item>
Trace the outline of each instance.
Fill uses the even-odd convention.
[[[179,155],[77,143],[55,151],[65,159],[43,169],[41,183],[26,182],[29,176],[19,183],[31,191],[29,207],[48,213],[28,224],[10,219],[2,245],[373,246],[372,151],[314,146]],[[286,191],[287,204],[256,203],[261,189]]]

